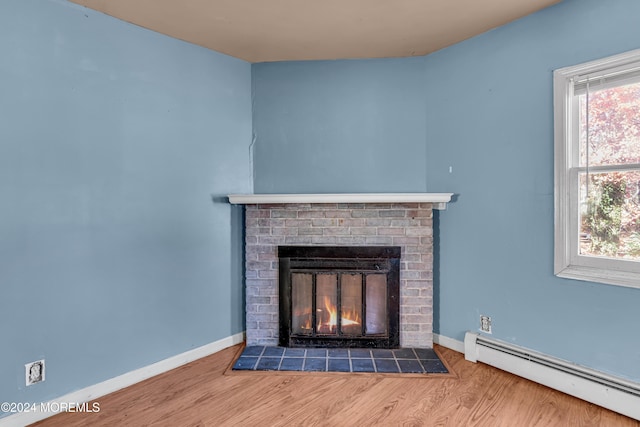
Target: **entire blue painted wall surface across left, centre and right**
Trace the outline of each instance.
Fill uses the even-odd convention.
[[[256,192],[459,194],[436,218],[436,332],[488,314],[497,338],[640,380],[640,291],[552,274],[551,73],[640,48],[637,16],[565,0],[423,58],[250,66],[0,2],[0,401],[243,329],[242,213],[219,196],[251,191],[252,90]]]

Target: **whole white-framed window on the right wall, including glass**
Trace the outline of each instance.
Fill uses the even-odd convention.
[[[640,288],[640,50],[554,72],[555,274]]]

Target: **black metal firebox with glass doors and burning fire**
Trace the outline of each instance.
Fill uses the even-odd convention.
[[[279,246],[279,344],[398,348],[400,252]]]

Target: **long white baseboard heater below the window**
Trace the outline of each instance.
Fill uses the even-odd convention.
[[[467,332],[464,356],[640,420],[640,384]]]

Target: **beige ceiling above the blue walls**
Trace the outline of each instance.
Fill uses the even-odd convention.
[[[70,0],[249,62],[426,55],[560,0]]]

